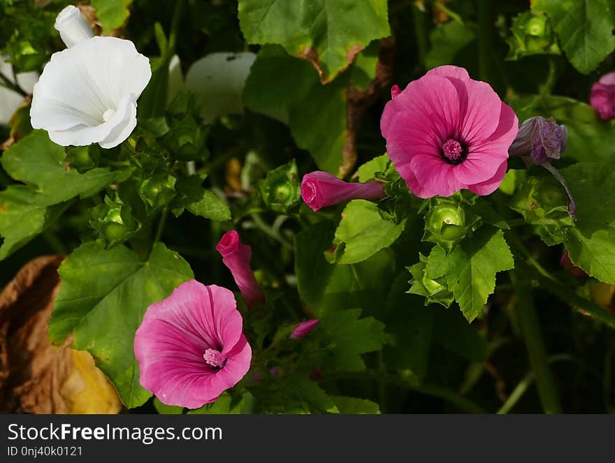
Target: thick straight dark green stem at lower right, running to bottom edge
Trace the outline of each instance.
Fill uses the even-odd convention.
[[[513,284],[517,285],[516,314],[519,318],[523,339],[526,342],[542,409],[545,413],[562,413],[556,383],[549,368],[547,350],[542,341],[542,333],[540,332],[540,324],[538,323],[529,282],[516,274],[515,270],[511,270],[510,279]]]

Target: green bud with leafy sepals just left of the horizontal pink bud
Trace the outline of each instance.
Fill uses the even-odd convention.
[[[295,160],[271,170],[265,179],[259,180],[258,189],[270,210],[283,214],[291,212],[301,199]]]

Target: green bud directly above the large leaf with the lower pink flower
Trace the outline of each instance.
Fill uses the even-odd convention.
[[[99,233],[106,248],[128,240],[141,228],[130,206],[117,193],[113,198],[105,196],[105,202],[92,209],[92,217],[89,225]]]

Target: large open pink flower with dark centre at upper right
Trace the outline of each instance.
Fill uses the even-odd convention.
[[[431,198],[468,189],[484,196],[498,189],[519,122],[489,84],[464,68],[440,66],[391,94],[380,129],[412,193]]]

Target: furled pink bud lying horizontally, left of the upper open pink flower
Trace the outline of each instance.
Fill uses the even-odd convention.
[[[322,170],[304,175],[301,182],[301,198],[314,212],[342,201],[379,200],[384,196],[382,182],[348,183]]]

